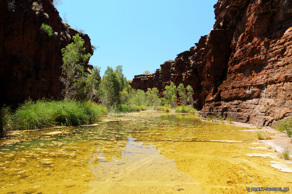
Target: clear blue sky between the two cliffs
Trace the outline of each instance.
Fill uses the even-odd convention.
[[[100,46],[91,65],[123,65],[128,80],[189,50],[215,23],[217,0],[62,0],[69,25],[85,30],[91,44]]]

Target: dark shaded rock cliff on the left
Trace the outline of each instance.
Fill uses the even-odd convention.
[[[64,26],[53,1],[36,2],[0,2],[0,104],[61,97],[61,49],[78,32]],[[40,30],[43,23],[53,28],[52,37]],[[93,54],[88,35],[81,37],[86,53]]]

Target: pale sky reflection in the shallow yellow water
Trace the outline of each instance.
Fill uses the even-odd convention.
[[[101,164],[102,162],[102,164]],[[151,144],[129,138],[120,160],[100,159],[87,193],[204,193],[189,174],[179,171]]]

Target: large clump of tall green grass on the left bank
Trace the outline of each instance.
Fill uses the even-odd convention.
[[[43,129],[54,126],[77,126],[100,122],[107,109],[90,101],[28,100],[18,107],[14,129]]]

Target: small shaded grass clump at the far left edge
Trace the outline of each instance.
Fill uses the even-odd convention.
[[[0,138],[5,137],[8,132],[12,131],[12,118],[13,113],[11,112],[11,109],[4,105],[0,109]]]

